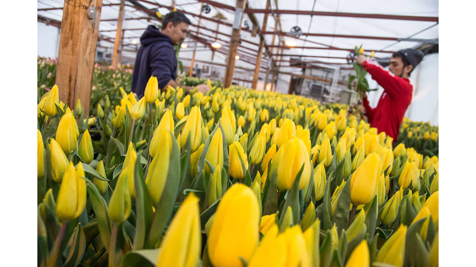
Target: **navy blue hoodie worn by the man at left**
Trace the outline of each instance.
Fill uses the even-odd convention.
[[[134,65],[131,91],[138,98],[144,96],[150,76],[157,77],[159,89],[177,78],[177,58],[172,39],[154,25],[149,25],[142,34]]]

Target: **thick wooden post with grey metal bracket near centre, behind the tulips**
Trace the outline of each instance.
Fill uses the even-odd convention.
[[[241,15],[237,18],[237,14],[235,13],[235,20],[239,20],[238,25],[233,27],[232,36],[230,40],[230,49],[228,50],[228,58],[227,58],[227,66],[225,71],[225,81],[223,82],[223,87],[228,88],[232,84],[233,80],[233,73],[235,71],[235,56],[237,55],[238,51],[238,43],[239,43],[239,31],[241,29],[241,19],[243,18],[244,8],[246,5],[246,0],[237,0],[237,9],[241,9]],[[235,11],[236,12],[236,11]],[[235,23],[234,23],[235,24]]]

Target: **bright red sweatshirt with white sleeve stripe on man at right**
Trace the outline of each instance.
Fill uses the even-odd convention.
[[[363,106],[370,127],[377,128],[379,133],[385,132],[393,137],[393,142],[395,142],[398,139],[405,111],[412,102],[413,86],[410,84],[410,80],[384,70],[382,66],[371,59],[363,62],[362,67],[370,73],[373,80],[384,87],[377,107],[371,108],[367,96],[363,98]]]

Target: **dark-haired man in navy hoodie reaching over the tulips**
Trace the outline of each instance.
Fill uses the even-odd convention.
[[[162,29],[149,25],[141,36],[141,47],[137,52],[131,91],[138,98],[144,96],[150,76],[157,77],[159,88],[165,90],[172,87],[184,87],[188,93],[194,87],[179,84],[177,79],[177,58],[174,45],[179,45],[187,37],[188,26],[192,24],[185,15],[170,12],[162,21]],[[198,85],[198,91],[206,93],[206,84]]]

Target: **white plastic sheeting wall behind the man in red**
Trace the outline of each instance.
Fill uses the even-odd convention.
[[[385,69],[388,70],[388,67]],[[418,64],[410,76],[413,85],[413,96],[405,117],[412,121],[430,122],[438,125],[438,53],[428,54]],[[384,89],[367,75],[370,88],[377,91],[367,93],[370,107],[376,107]],[[390,111],[389,111],[390,112]]]

